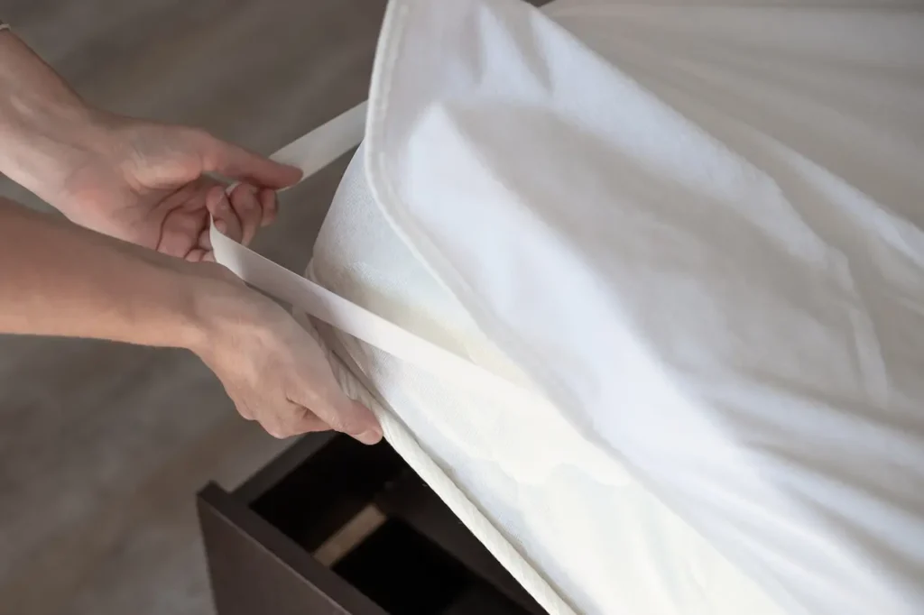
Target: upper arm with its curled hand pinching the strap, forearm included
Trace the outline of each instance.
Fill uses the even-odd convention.
[[[92,108],[18,37],[0,36],[0,173],[72,221],[164,254],[209,259],[209,214],[248,243],[298,169],[195,128]],[[225,199],[209,173],[242,184]]]

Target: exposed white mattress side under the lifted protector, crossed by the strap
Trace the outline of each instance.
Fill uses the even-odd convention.
[[[407,331],[523,378],[384,220],[366,184],[362,149],[334,197],[308,275]],[[498,406],[348,336],[335,344],[578,612],[779,612],[553,406]]]

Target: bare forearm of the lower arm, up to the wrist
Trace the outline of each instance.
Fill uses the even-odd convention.
[[[0,199],[0,332],[204,344],[195,266]]]

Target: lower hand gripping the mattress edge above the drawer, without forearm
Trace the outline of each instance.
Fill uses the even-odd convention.
[[[342,392],[322,348],[285,309],[249,289],[221,265],[192,265],[200,284],[203,323],[192,350],[237,406],[276,438],[334,429],[365,444],[382,428],[364,405]]]

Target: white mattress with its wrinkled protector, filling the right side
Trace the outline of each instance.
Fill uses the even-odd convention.
[[[924,605],[924,18],[788,4],[389,9],[310,275],[550,400],[337,335],[577,612]]]

